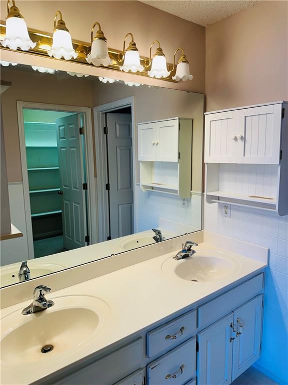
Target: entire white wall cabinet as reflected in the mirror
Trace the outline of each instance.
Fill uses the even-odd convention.
[[[191,197],[192,119],[138,124],[140,187]]]

